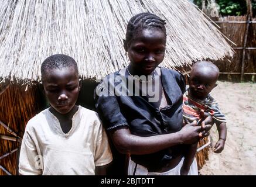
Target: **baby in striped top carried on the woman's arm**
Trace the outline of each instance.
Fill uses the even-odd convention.
[[[183,95],[183,117],[189,122],[196,120],[200,123],[200,113],[202,110],[209,113],[217,125],[219,131],[219,141],[214,147],[214,153],[221,153],[226,141],[226,119],[221,113],[217,102],[210,96],[210,92],[217,86],[219,68],[209,61],[200,61],[193,65],[190,72],[189,88]],[[185,155],[181,175],[187,175],[190,165],[196,154],[197,144],[191,145],[190,151]]]

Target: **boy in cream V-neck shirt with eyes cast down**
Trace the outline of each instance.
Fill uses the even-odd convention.
[[[76,106],[81,82],[76,61],[56,54],[41,67],[50,108],[29,120],[19,158],[21,175],[98,175],[112,161],[97,113]]]

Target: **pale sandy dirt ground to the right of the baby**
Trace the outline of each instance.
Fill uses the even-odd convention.
[[[227,117],[227,140],[222,153],[210,151],[202,175],[256,175],[256,84],[218,82],[211,95]],[[213,146],[218,140],[211,129]]]

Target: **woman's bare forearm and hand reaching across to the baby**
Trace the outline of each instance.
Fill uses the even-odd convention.
[[[196,122],[186,124],[182,130],[176,133],[161,134],[150,137],[132,135],[129,129],[118,129],[112,131],[110,136],[120,153],[123,154],[151,154],[177,144],[196,143],[201,137],[200,126]]]

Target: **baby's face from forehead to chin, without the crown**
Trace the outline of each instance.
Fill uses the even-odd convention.
[[[189,78],[189,92],[196,99],[205,99],[217,86],[218,73],[203,68],[192,70]]]

